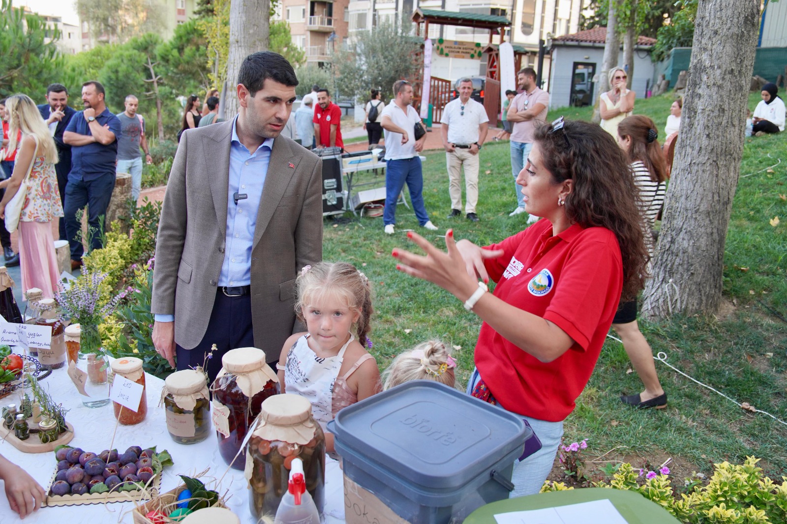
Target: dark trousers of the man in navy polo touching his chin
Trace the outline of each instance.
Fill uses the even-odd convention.
[[[65,232],[68,244],[71,245],[71,260],[82,260],[84,249],[79,239],[82,224],[76,221],[76,212],[87,205],[87,226],[93,230],[91,249],[104,247],[102,221],[106,217],[106,208],[115,189],[115,173],[105,173],[98,179],[85,181],[69,179],[65,186]]]

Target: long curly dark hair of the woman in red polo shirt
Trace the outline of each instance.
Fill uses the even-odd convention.
[[[566,197],[566,216],[582,227],[606,227],[615,234],[623,257],[621,300],[633,300],[645,287],[648,249],[639,191],[623,149],[598,124],[566,120],[561,131],[542,124],[534,134],[541,161],[554,182],[574,181]]]

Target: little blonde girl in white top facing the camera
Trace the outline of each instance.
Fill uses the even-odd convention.
[[[340,409],[379,391],[377,362],[365,349],[371,287],[366,275],[345,262],[305,266],[296,287],[295,313],[308,331],[284,343],[279,383],[282,393],[309,399],[324,431]],[[332,434],[326,432],[325,444],[334,451]]]

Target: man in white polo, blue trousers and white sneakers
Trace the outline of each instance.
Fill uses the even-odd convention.
[[[421,119],[410,105],[412,86],[407,80],[397,80],[393,83],[393,96],[393,104],[382,109],[380,122],[386,130],[386,208],[382,212],[385,231],[386,234],[393,234],[396,202],[405,183],[418,223],[431,231],[437,231],[437,226],[429,220],[427,209],[423,206],[423,172],[418,153],[423,150],[427,134],[424,133],[417,142],[413,136],[416,123],[420,124]]]

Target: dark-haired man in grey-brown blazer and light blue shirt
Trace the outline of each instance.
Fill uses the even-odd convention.
[[[279,360],[293,333],[297,271],[322,259],[322,161],[279,136],[297,79],[270,51],[246,57],[238,116],[183,133],[164,195],[153,268],[153,344],[215,378],[229,349]]]

